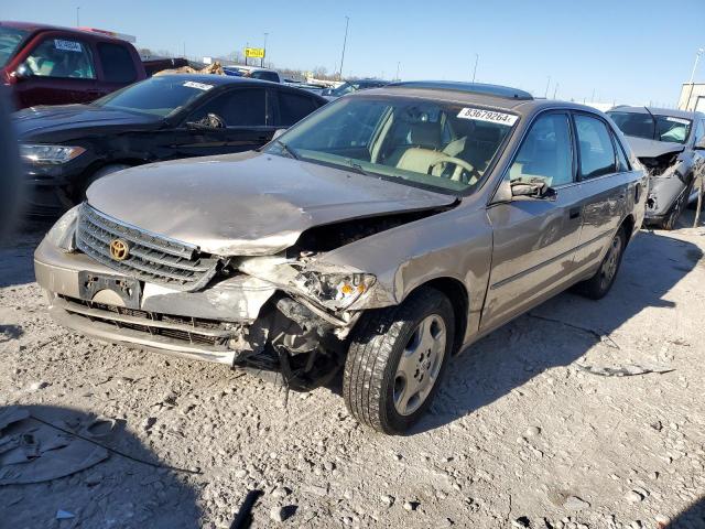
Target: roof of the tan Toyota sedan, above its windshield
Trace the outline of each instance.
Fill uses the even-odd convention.
[[[514,93],[517,93],[518,97],[513,97]],[[477,105],[511,110],[520,116],[529,116],[547,109],[581,110],[603,116],[601,111],[585,105],[555,99],[534,99],[531,94],[524,90],[508,86],[485,85],[481,83],[455,83],[446,80],[392,83],[381,88],[356,91],[344,97],[373,97],[376,95],[419,97],[468,106]]]

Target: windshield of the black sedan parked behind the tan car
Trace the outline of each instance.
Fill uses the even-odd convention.
[[[185,77],[151,77],[98,99],[94,105],[165,118],[203,97],[214,86]]]

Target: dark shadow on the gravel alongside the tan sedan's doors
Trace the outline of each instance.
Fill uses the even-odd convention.
[[[695,245],[668,233],[640,233],[627,248],[619,276],[606,298],[590,301],[573,293],[560,294],[455,357],[431,413],[412,433],[453,422],[552,367],[573,364],[600,342],[600,336],[609,336],[647,307],[675,310],[666,294],[691,270],[702,266],[702,257]],[[619,345],[605,345],[614,350],[610,367],[619,366]]]

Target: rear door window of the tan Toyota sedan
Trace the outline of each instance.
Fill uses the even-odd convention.
[[[581,175],[594,179],[617,172],[615,148],[607,126],[597,118],[575,115]]]

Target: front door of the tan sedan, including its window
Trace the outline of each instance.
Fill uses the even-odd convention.
[[[555,194],[514,196],[488,207],[494,249],[482,331],[525,312],[573,278],[583,210],[567,114],[547,112],[535,119],[506,179],[502,185],[545,182]]]

